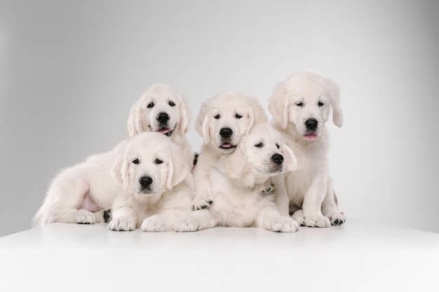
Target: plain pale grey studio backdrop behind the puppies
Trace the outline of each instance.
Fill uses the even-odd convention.
[[[60,169],[128,136],[150,85],[181,92],[195,120],[226,90],[266,108],[302,69],[342,90],[344,126],[328,127],[347,224],[439,232],[438,4],[0,1],[0,236],[31,227]]]

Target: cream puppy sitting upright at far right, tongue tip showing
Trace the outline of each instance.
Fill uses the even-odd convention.
[[[272,125],[283,134],[297,157],[297,170],[276,178],[288,197],[278,197],[282,214],[290,214],[299,224],[330,227],[346,221],[337,209],[337,198],[328,175],[328,135],[325,123],[342,127],[343,113],[339,88],[334,81],[313,71],[292,74],[278,83],[269,100]]]

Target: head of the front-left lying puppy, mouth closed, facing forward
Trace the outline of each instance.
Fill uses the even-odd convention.
[[[144,132],[131,138],[114,162],[113,174],[135,197],[161,197],[190,174],[182,149],[165,135]]]

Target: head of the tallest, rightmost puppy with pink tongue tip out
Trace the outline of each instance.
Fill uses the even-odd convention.
[[[334,81],[313,71],[292,74],[274,88],[269,111],[283,129],[291,123],[299,135],[309,141],[322,132],[330,109],[332,121],[343,125],[339,88]]]

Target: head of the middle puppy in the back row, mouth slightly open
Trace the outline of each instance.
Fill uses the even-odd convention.
[[[264,109],[257,99],[239,92],[227,92],[215,95],[201,105],[195,128],[205,144],[212,144],[219,153],[231,153],[242,135],[257,123],[266,123]]]

